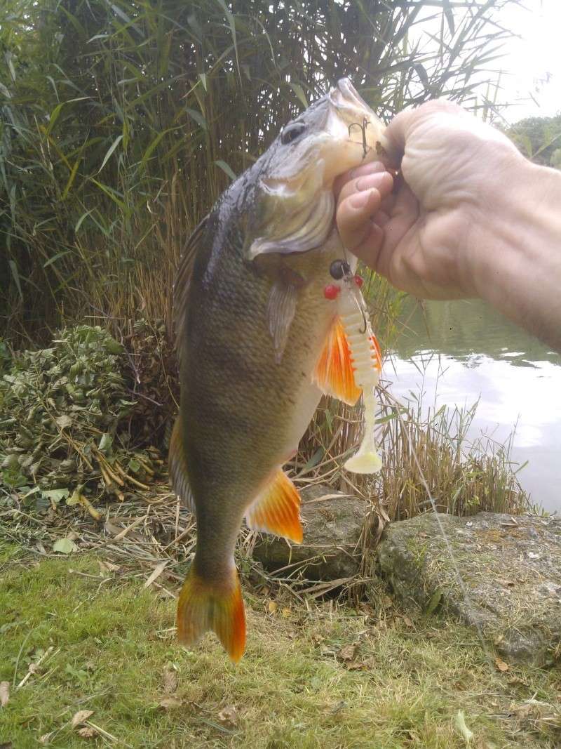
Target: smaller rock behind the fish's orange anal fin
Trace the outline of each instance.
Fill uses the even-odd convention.
[[[304,542],[292,544],[277,536],[260,535],[254,558],[275,571],[291,565],[310,580],[352,577],[361,564],[361,539],[370,509],[364,500],[313,485],[301,491]]]

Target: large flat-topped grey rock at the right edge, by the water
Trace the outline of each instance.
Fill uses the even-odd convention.
[[[507,662],[560,658],[561,518],[420,515],[386,528],[378,563],[405,604],[456,613]]]

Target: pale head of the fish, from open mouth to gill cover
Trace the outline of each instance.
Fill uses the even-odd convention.
[[[295,122],[304,128],[295,144],[283,143],[281,133],[255,165],[258,189],[244,243],[248,261],[322,246],[333,225],[334,180],[384,150],[384,124],[348,79]]]

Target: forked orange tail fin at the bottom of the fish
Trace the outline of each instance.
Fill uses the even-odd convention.
[[[245,608],[233,562],[230,576],[218,582],[197,574],[192,564],[183,583],[177,603],[178,640],[182,645],[194,646],[209,629],[237,663],[245,650]]]

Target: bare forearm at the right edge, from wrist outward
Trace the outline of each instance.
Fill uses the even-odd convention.
[[[494,186],[473,229],[473,285],[561,352],[561,172],[525,162],[512,180]]]

